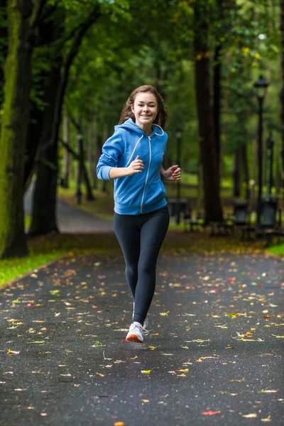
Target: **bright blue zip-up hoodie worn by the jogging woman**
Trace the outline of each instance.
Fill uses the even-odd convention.
[[[114,212],[118,214],[143,214],[160,209],[167,204],[165,185],[160,178],[168,135],[156,124],[153,133],[146,133],[128,119],[114,126],[114,134],[104,143],[97,163],[97,177],[111,180],[109,170],[128,167],[139,155],[143,160],[142,173],[114,179]]]

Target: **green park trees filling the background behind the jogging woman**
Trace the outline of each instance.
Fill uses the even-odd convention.
[[[283,10],[282,0],[1,0],[0,257],[27,253],[32,179],[30,235],[58,232],[59,183],[77,181],[78,202],[81,182],[89,200],[94,188],[111,192],[97,182],[97,159],[142,84],[168,107],[165,167],[182,129],[182,184],[198,185],[209,222],[222,220],[224,185],[254,197],[253,83],[263,74],[264,141],[273,131],[273,191],[283,197]]]

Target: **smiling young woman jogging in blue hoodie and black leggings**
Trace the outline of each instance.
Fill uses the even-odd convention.
[[[153,86],[133,90],[119,125],[102,148],[97,176],[114,180],[114,232],[126,263],[133,319],[126,342],[143,342],[155,292],[155,268],[168,231],[169,212],[162,180],[180,180],[180,168],[163,168],[167,109]]]

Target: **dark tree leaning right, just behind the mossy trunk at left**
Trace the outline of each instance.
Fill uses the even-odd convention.
[[[79,6],[80,1],[77,1]],[[84,35],[89,28],[104,17],[111,19],[112,14],[124,11],[126,1],[120,0],[111,6],[108,1],[103,4],[93,0],[88,5],[88,10],[84,9],[82,21],[74,26],[70,31],[65,28],[65,59],[62,63],[60,77],[58,78],[58,88],[56,92],[53,116],[50,119],[50,133],[48,138],[40,146],[37,179],[35,182],[35,195],[33,200],[33,219],[29,235],[48,234],[58,232],[56,217],[56,192],[58,183],[58,136],[60,131],[62,105],[64,102],[67,82],[70,75],[70,68],[77,54],[79,53]],[[80,16],[80,13],[79,13]],[[81,17],[81,16],[80,16]],[[104,25],[106,23],[104,22]],[[60,41],[60,40],[59,40]],[[46,214],[48,212],[48,214]]]

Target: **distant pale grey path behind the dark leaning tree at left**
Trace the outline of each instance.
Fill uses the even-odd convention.
[[[32,194],[33,182],[24,197],[24,209],[26,214],[32,211]],[[92,214],[82,212],[80,209],[70,206],[58,197],[56,206],[56,214],[58,218],[58,227],[60,232],[96,232],[96,231],[113,231],[112,222],[99,219]]]

